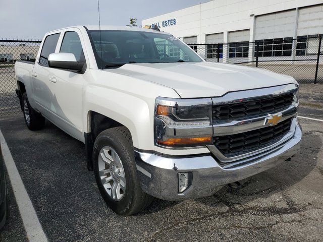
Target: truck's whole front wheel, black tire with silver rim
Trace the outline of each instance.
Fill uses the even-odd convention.
[[[101,132],[93,149],[94,174],[106,204],[120,215],[147,207],[152,197],[141,190],[130,132],[116,127]]]

